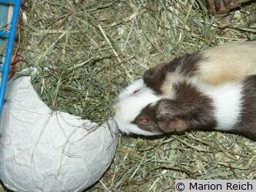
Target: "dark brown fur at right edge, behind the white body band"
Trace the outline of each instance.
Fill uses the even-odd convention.
[[[233,132],[256,141],[256,75],[244,79],[243,84],[241,118]]]

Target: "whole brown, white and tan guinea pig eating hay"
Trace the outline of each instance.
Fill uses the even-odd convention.
[[[145,71],[119,96],[118,127],[144,135],[215,128],[256,139],[246,118],[256,111],[254,76],[245,78],[256,74],[254,50],[255,42],[229,43]]]

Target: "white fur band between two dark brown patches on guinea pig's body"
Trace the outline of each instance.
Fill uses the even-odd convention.
[[[214,101],[214,116],[217,120],[215,129],[231,130],[239,121],[242,109],[242,84],[224,84],[218,87],[204,88]]]

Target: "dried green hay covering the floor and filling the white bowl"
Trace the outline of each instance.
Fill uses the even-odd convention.
[[[30,1],[18,50],[53,110],[101,123],[145,69],[226,41],[256,40],[254,2],[225,18],[202,1]],[[21,69],[22,69],[21,68]],[[26,75],[28,72],[18,72]],[[115,161],[89,191],[171,191],[175,179],[256,179],[256,143],[220,132],[120,137]]]

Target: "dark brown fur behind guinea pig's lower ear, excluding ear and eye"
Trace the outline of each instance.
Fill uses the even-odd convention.
[[[156,111],[158,121],[170,122],[179,118],[189,125],[188,129],[207,129],[216,125],[211,98],[188,82],[175,84],[174,90],[176,94],[174,100],[161,99],[158,101]],[[183,129],[182,127],[181,131]]]

